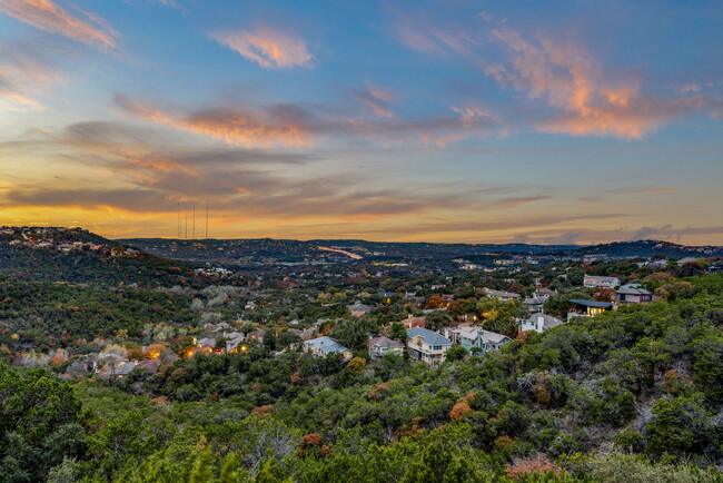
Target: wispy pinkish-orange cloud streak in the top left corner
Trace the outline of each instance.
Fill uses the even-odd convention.
[[[118,33],[102,18],[68,3],[72,14],[51,0],[0,0],[0,11],[40,30],[102,48],[115,48]]]

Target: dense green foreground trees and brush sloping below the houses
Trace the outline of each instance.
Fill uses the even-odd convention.
[[[721,481],[723,277],[687,283],[434,369],[271,343],[113,386],[3,365],[1,479]]]

